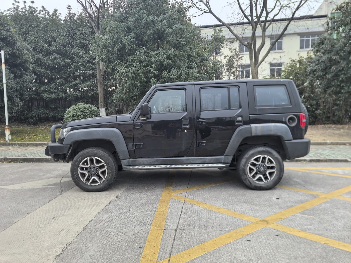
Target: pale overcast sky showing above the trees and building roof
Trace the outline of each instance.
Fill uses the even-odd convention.
[[[212,6],[213,11],[220,17],[222,18],[225,22],[229,22],[227,19],[232,11],[230,10],[230,7],[227,6],[227,2],[229,0],[212,0],[210,1],[210,4]],[[232,0],[233,1],[233,0]],[[273,2],[272,0],[269,0]],[[20,1],[22,3],[22,1]],[[27,1],[27,3],[29,3]],[[79,7],[77,1],[75,0],[34,0],[35,4],[34,6],[41,7],[44,5],[46,9],[48,9],[50,12],[54,11],[55,8],[58,9],[59,13],[64,16],[67,12],[67,5],[71,5],[72,11],[73,12],[79,12],[81,11],[81,8]],[[297,16],[300,15],[306,15],[306,14],[313,14],[314,11],[318,8],[320,5],[321,0],[311,0],[311,6],[309,8],[303,8],[299,13],[297,13]],[[12,6],[13,1],[12,0],[0,0],[0,10],[6,10]],[[219,24],[219,22],[213,18],[212,15],[210,14],[203,14],[201,16],[192,18],[192,22],[195,23],[197,26],[204,26],[204,25],[216,25]]]

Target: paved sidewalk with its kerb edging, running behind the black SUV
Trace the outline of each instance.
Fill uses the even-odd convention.
[[[0,146],[0,162],[28,161],[52,162],[52,158],[45,156],[45,146]],[[310,162],[351,162],[350,145],[311,145],[308,155],[292,161]]]

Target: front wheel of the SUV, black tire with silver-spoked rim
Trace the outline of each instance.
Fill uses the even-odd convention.
[[[117,169],[116,159],[109,151],[92,147],[82,150],[74,157],[71,164],[71,177],[80,189],[87,192],[100,192],[114,182]],[[91,176],[92,174],[94,176]]]

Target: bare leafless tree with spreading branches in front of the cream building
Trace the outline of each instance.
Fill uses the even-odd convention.
[[[284,35],[286,29],[293,21],[296,12],[303,7],[308,0],[274,0],[270,5],[268,0],[230,2],[232,10],[238,10],[233,14],[233,21],[236,23],[248,22],[248,26],[243,25],[242,32],[236,32],[230,23],[226,23],[219,15],[212,10],[210,0],[185,0],[188,8],[196,8],[200,13],[211,14],[239,41],[239,45],[249,50],[250,68],[252,79],[258,79],[259,66],[266,59],[273,46]],[[246,4],[247,3],[247,4]],[[279,16],[288,16],[284,23],[277,23],[275,19]],[[274,26],[274,28],[273,28]],[[249,32],[247,28],[250,28]],[[276,31],[273,40],[266,50],[263,50],[266,43],[266,36],[269,30]],[[257,37],[261,36],[258,43]],[[262,54],[261,54],[262,53]]]

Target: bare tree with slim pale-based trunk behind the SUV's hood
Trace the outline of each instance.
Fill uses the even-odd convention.
[[[109,3],[108,0],[99,0],[99,2],[94,0],[77,0],[77,2],[89,16],[95,34],[101,35],[101,20],[105,18],[106,13],[108,12],[108,6],[111,3]],[[104,97],[104,62],[97,59],[96,69],[98,78],[100,116],[106,116]]]

